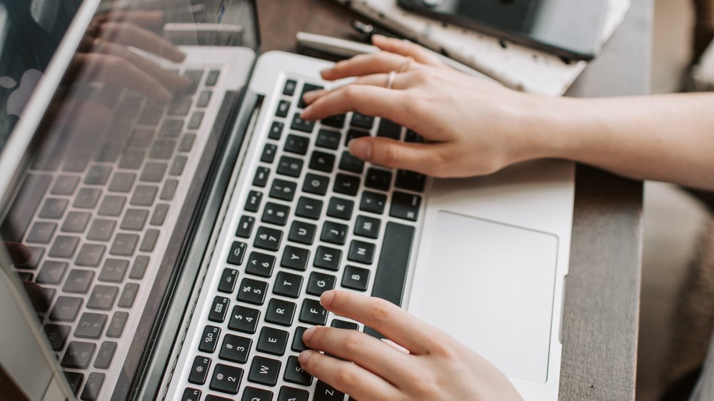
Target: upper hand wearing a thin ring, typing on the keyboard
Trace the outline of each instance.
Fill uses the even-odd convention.
[[[518,161],[549,157],[549,148],[557,146],[548,127],[562,112],[563,99],[467,76],[408,41],[373,36],[373,43],[382,51],[322,71],[328,81],[358,78],[331,91],[306,93],[310,106],[303,118],[358,111],[406,126],[426,143],[358,138],[349,145],[358,158],[431,176],[478,176]],[[392,88],[385,88],[388,73],[405,68]]]

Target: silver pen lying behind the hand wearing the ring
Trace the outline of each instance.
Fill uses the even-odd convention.
[[[298,45],[303,46],[306,49],[323,51],[325,53],[334,54],[336,56],[341,57],[352,57],[358,54],[376,53],[377,51],[379,51],[378,47],[372,46],[370,44],[362,44],[356,41],[338,39],[332,36],[308,34],[307,32],[298,32],[298,34],[296,35],[296,39],[298,41]],[[431,51],[429,49],[426,50],[436,55],[439,59],[441,59],[441,61],[443,61],[444,64],[456,69],[457,71],[461,71],[470,76],[483,78],[487,81],[498,83],[499,85],[501,84],[490,76],[478,72],[469,66],[459,63],[458,61],[449,59],[446,56],[438,54],[436,53],[436,51]]]

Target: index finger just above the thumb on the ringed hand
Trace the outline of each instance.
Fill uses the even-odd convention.
[[[404,125],[408,109],[403,93],[378,86],[348,85],[313,101],[303,111],[302,118],[312,121],[358,111],[369,116],[386,117]]]

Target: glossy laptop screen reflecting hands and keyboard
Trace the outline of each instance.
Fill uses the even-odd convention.
[[[36,346],[78,398],[137,391],[171,289],[191,279],[182,260],[208,241],[193,230],[215,218],[206,199],[240,146],[255,13],[251,0],[0,0],[1,271],[24,282]],[[0,347],[4,376],[42,399],[51,386],[25,387],[22,358],[6,358],[27,345]]]

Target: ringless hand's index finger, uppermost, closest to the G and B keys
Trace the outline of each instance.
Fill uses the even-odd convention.
[[[331,290],[322,294],[320,303],[323,308],[337,315],[351,318],[377,330],[412,354],[429,353],[433,342],[443,337],[443,333],[436,328],[381,298]]]

